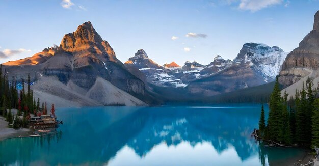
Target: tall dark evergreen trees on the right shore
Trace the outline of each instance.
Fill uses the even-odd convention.
[[[262,105],[258,136],[277,143],[299,146],[319,146],[319,98],[310,78],[295,97],[281,95],[278,78],[269,100],[269,117],[265,122]]]

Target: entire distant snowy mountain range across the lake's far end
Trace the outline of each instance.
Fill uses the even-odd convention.
[[[190,94],[212,96],[274,81],[287,54],[277,46],[246,43],[234,61],[216,56],[208,65],[187,61],[180,67],[176,63],[158,65],[140,49],[124,65],[144,73],[149,84],[184,87]]]

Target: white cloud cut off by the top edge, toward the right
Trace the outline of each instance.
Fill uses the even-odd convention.
[[[256,12],[263,8],[281,4],[283,0],[241,0],[238,8],[242,10],[250,10]]]

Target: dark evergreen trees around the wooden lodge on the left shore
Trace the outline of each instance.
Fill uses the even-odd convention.
[[[25,90],[26,83],[26,90]],[[33,90],[31,90],[31,78],[30,73],[28,74],[28,79],[26,82],[21,79],[22,90],[18,90],[18,81],[14,76],[12,76],[12,81],[8,80],[8,75],[2,72],[2,65],[0,64],[0,115],[6,118],[9,124],[13,124],[14,128],[27,127],[30,114],[34,116],[41,116],[42,114],[47,114],[47,103],[42,102],[40,106],[40,99],[37,99],[33,95]],[[17,114],[14,115],[11,109],[17,109]],[[51,113],[55,114],[54,104],[51,106]],[[18,116],[22,116],[22,121]]]

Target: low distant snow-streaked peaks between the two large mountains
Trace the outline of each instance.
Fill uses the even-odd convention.
[[[129,69],[132,67],[138,69],[146,76],[146,81],[161,87],[186,87],[191,81],[199,78],[207,77],[214,74],[232,64],[230,60],[224,60],[221,56],[217,56],[209,65],[202,65],[198,62],[185,62],[180,67],[175,62],[159,66],[151,60],[146,52],[142,49],[135,53],[134,57],[125,62],[125,66]],[[132,71],[135,75],[137,71]]]

